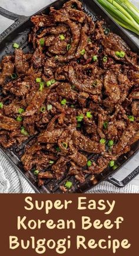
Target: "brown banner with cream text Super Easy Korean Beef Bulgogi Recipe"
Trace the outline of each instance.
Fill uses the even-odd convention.
[[[138,194],[1,194],[1,255],[138,255]]]

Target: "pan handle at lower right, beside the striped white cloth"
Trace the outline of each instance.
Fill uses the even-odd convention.
[[[108,182],[110,182],[113,185],[116,185],[117,187],[124,187],[128,183],[130,183],[131,180],[133,180],[137,175],[139,174],[139,166],[134,169],[131,174],[128,174],[127,177],[124,178],[124,180],[119,181],[116,178],[113,178],[112,176],[108,177]]]

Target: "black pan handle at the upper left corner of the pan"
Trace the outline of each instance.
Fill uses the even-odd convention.
[[[2,7],[0,7],[0,15],[4,16],[5,18],[8,18],[10,20],[14,20],[15,22],[10,25],[2,34],[0,34],[0,43],[6,36],[8,36],[11,31],[15,30],[16,27],[18,27],[20,24],[24,23],[25,20],[28,20],[29,17],[24,15],[18,15],[14,12],[8,11]]]

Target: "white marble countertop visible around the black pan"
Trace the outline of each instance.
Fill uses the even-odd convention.
[[[8,9],[9,11],[15,12],[17,14],[21,15],[32,15],[35,12],[37,12],[39,9],[47,6],[49,2],[54,2],[52,0],[1,0],[0,6]],[[132,0],[132,2],[137,5],[139,8],[139,1],[138,0]],[[0,15],[0,33],[4,31],[9,25],[11,25],[13,21],[8,20],[7,18],[4,18]],[[130,34],[130,36],[136,41],[136,43],[139,44],[139,38],[133,36],[133,34]],[[139,153],[134,156],[131,161],[129,161],[117,174],[115,174],[115,177],[118,178],[118,180],[122,180],[124,177],[126,177],[128,174],[130,174],[131,171],[133,171],[137,166],[139,165]],[[131,181],[131,184],[139,185],[139,175],[134,178],[133,181]]]

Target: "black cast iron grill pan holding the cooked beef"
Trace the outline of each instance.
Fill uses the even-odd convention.
[[[54,6],[56,9],[59,9],[62,7],[64,2],[67,2],[67,0],[58,0],[48,5],[47,7],[41,9],[41,11],[38,11],[36,14],[48,14],[50,6]],[[123,38],[123,40],[128,44],[128,46],[130,46],[133,52],[139,53],[138,45],[130,37],[128,37],[126,31],[123,30],[123,28],[121,28],[117,23],[115,23],[115,21],[112,20],[110,15],[106,11],[104,11],[104,9],[102,9],[102,7],[95,0],[84,0],[82,2],[84,4],[85,11],[89,15],[91,15],[94,20],[100,19],[100,17],[104,18],[110,30],[120,35]],[[15,21],[14,24],[12,24],[0,35],[0,60],[4,55],[11,55],[14,53],[12,44],[15,41],[16,43],[20,44],[21,48],[24,50],[24,53],[31,52],[32,46],[31,44],[28,44],[28,34],[31,31],[32,27],[30,17],[14,14],[1,7],[0,14],[6,18],[10,18],[11,20]],[[29,138],[29,140],[31,139],[32,137]],[[24,175],[24,177],[32,185],[35,191],[37,191],[37,193],[62,193],[62,191],[59,190],[59,185],[64,184],[67,180],[72,181],[73,184],[72,189],[68,191],[69,193],[83,193],[87,190],[90,190],[92,187],[94,187],[95,185],[104,180],[107,180],[110,183],[117,185],[118,187],[124,187],[124,185],[129,183],[131,180],[133,180],[133,178],[135,178],[135,176],[139,174],[139,167],[137,167],[136,169],[134,169],[133,172],[131,172],[130,175],[124,178],[123,181],[118,181],[115,178],[112,178],[112,175],[115,172],[117,172],[121,167],[123,167],[123,165],[126,164],[127,161],[131,159],[135,155],[135,153],[138,152],[139,142],[136,142],[131,146],[130,152],[121,155],[120,158],[118,158],[118,168],[114,171],[108,167],[103,172],[101,172],[101,174],[95,175],[94,180],[90,180],[91,175],[86,175],[85,183],[83,184],[78,183],[78,181],[76,181],[74,177],[69,177],[65,174],[62,180],[47,180],[45,181],[45,184],[42,187],[38,187],[37,179],[31,172],[24,171],[24,168],[22,167],[22,163],[20,161],[21,155],[22,153],[24,153],[25,143],[28,142],[24,142],[18,148],[14,147],[12,149],[3,149],[0,147],[0,150],[6,156],[6,158],[12,163],[12,165],[14,165],[14,167],[18,169],[18,171],[21,172],[22,175]],[[90,155],[90,158],[92,157],[93,155]]]

